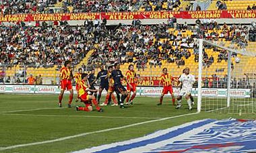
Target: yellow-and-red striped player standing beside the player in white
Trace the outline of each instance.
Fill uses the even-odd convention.
[[[164,95],[168,94],[168,92],[170,92],[170,95],[172,95],[172,105],[175,105],[175,99],[174,99],[174,94],[172,90],[172,82],[174,81],[174,79],[170,74],[168,74],[167,68],[163,68],[162,72],[163,74],[160,77],[159,84],[162,83],[162,85],[164,85],[164,89],[162,89],[160,103],[158,103],[158,105],[162,105],[162,99],[164,98]]]

